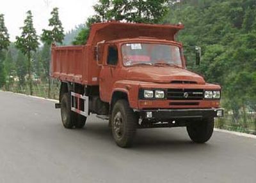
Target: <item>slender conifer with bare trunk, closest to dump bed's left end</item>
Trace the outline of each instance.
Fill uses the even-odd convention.
[[[44,42],[44,50],[47,49],[47,55],[43,58],[43,65],[45,66],[46,75],[49,77],[49,88],[48,88],[48,97],[51,97],[51,77],[50,77],[50,45],[51,43],[62,43],[64,40],[65,34],[62,27],[58,8],[53,8],[51,12],[52,17],[49,19],[49,27],[52,27],[51,30],[43,29],[43,34],[41,40]]]

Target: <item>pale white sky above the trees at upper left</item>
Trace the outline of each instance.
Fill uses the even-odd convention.
[[[60,20],[65,32],[83,24],[86,18],[93,15],[93,4],[97,0],[0,0],[0,14],[4,14],[5,26],[10,34],[10,40],[15,41],[20,36],[20,27],[24,25],[26,12],[32,11],[36,33],[47,29],[52,8],[58,7]]]

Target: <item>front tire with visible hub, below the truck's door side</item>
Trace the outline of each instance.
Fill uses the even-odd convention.
[[[113,138],[119,147],[130,147],[136,134],[138,117],[130,108],[129,103],[118,100],[111,115],[111,130]]]

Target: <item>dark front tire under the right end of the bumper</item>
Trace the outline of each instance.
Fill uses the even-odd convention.
[[[203,119],[200,122],[194,122],[187,126],[188,135],[196,143],[207,142],[213,133],[214,118]]]

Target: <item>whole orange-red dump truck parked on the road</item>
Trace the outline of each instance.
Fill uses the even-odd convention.
[[[223,116],[221,87],[186,70],[175,41],[182,28],[105,22],[93,24],[86,45],[52,45],[63,126],[83,128],[94,113],[108,120],[120,147],[130,146],[139,128],[186,126],[191,140],[207,142],[214,117]],[[200,47],[195,53],[198,64]]]

